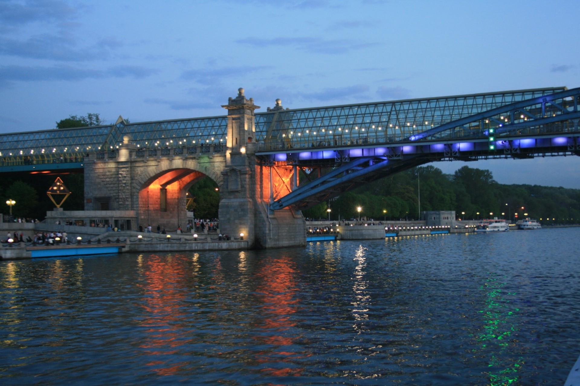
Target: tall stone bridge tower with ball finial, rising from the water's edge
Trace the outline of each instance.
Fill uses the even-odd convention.
[[[253,99],[244,89],[222,106],[228,110],[226,167],[220,191],[220,232],[232,238],[244,234],[255,248],[304,246],[306,226],[302,214],[290,209],[270,212],[270,195],[281,175],[256,163]],[[270,183],[270,180],[274,181]],[[289,182],[289,181],[288,181]]]

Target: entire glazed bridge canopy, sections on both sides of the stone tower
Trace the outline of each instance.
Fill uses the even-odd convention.
[[[256,141],[278,144],[291,141],[302,144],[300,146],[337,143],[337,140],[342,143],[346,138],[375,138],[380,139],[377,142],[387,142],[391,135],[423,132],[433,125],[564,89],[542,88],[256,113]],[[0,156],[111,150],[121,145],[124,135],[131,136],[138,147],[219,144],[226,142],[226,134],[227,116],[49,129],[0,135]]]

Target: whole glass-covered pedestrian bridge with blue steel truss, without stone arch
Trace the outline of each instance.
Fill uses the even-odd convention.
[[[580,155],[579,98],[580,88],[555,87],[307,109],[278,99],[255,113],[239,150],[270,168],[270,210],[300,210],[432,161]],[[228,116],[3,134],[0,172],[82,171],[90,154],[115,160],[124,138],[136,160],[224,163],[227,134]]]

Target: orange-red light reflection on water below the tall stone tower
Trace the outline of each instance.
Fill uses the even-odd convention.
[[[291,363],[292,359],[303,358],[308,355],[288,351],[284,346],[292,345],[297,340],[296,336],[289,336],[285,331],[296,325],[291,315],[296,312],[299,301],[294,297],[296,287],[296,268],[287,256],[278,259],[268,259],[256,272],[258,287],[256,295],[263,302],[262,310],[264,318],[260,320],[259,329],[267,334],[255,336],[261,344],[275,346],[271,350],[263,350],[256,353],[258,363]],[[298,376],[302,374],[301,367],[266,367],[260,369],[270,376]]]

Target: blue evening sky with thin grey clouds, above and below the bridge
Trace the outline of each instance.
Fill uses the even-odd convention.
[[[258,111],[574,88],[579,16],[576,1],[0,0],[0,132],[223,115],[239,87]],[[580,188],[580,157],[467,165]]]

